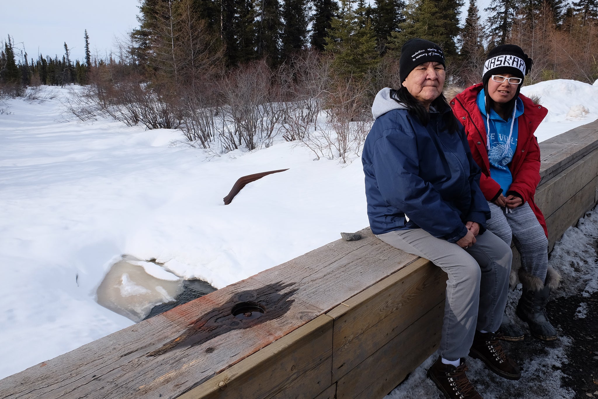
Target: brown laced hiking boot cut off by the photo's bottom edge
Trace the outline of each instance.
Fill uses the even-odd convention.
[[[465,361],[462,361],[461,366],[454,367],[452,364],[443,364],[439,356],[428,369],[428,378],[434,381],[447,399],[482,399],[467,379],[466,370]]]

